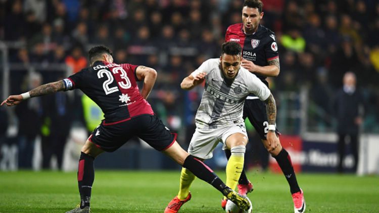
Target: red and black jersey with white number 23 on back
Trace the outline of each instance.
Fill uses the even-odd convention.
[[[137,67],[96,61],[63,81],[66,90],[80,89],[99,105],[104,112],[104,123],[110,125],[138,115],[154,114],[151,105],[139,93]]]

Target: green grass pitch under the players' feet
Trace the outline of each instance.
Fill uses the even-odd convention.
[[[160,212],[178,190],[180,171],[96,171],[91,208],[94,213]],[[216,172],[223,180],[225,173]],[[253,212],[293,212],[285,177],[250,172],[255,190]],[[306,212],[379,212],[379,178],[353,175],[299,174]],[[195,180],[192,200],[179,212],[224,212],[220,193]],[[79,202],[76,173],[0,172],[0,212],[66,212]]]

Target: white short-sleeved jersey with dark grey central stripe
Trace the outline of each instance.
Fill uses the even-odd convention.
[[[242,66],[234,81],[228,85],[219,58],[206,60],[191,75],[195,77],[202,72],[207,75],[205,90],[195,117],[198,128],[217,128],[244,122],[242,116],[245,98],[253,93],[264,101],[271,94],[261,80]]]

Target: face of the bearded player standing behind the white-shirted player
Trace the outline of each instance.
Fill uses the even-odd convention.
[[[245,33],[254,33],[258,29],[259,22],[263,18],[263,12],[259,13],[258,8],[245,6],[242,9],[242,22],[244,23]]]

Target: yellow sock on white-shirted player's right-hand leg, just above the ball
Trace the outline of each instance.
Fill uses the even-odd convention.
[[[232,153],[226,165],[226,186],[233,190],[235,190],[244,169],[244,159],[244,153],[242,155],[240,153]]]

